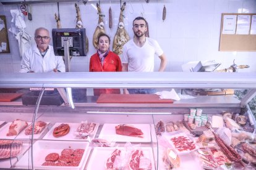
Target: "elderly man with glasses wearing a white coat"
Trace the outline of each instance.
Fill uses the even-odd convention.
[[[35,30],[36,46],[23,54],[20,73],[65,72],[64,61],[61,56],[54,55],[53,46],[49,45],[50,40],[46,28]]]

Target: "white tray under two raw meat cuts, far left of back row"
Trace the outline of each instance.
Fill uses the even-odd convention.
[[[23,129],[22,132],[20,132],[17,136],[6,136],[6,134],[9,132],[9,127],[12,124],[12,122],[6,123],[4,124],[4,126],[1,127],[0,129],[0,136],[2,139],[30,139],[30,135],[25,135],[25,129],[27,129],[29,127],[29,125],[31,124],[30,122],[28,122],[28,126],[25,127],[25,129]],[[41,137],[42,134],[45,133],[45,131],[47,131],[47,126],[48,126],[49,122],[46,122],[46,127],[45,129],[43,129],[43,131],[41,131],[40,134],[34,134],[34,139],[39,139]]]

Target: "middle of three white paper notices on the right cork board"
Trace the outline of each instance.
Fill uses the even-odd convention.
[[[250,15],[237,15],[236,34],[249,34]]]

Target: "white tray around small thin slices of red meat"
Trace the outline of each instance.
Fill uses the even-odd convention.
[[[195,144],[195,141],[193,139],[190,139],[187,134],[185,134],[184,132],[181,131],[175,131],[175,132],[171,132],[168,134],[165,134],[164,137],[168,140],[169,144],[171,144],[171,146],[174,148],[174,150],[176,151],[176,153],[178,155],[184,155],[190,152],[193,152],[194,150],[198,149],[198,146]],[[185,139],[189,139],[189,142],[191,143],[190,145],[193,145],[194,148],[191,148],[191,150],[178,150],[176,148],[176,145],[173,143],[173,141],[171,139],[173,139],[174,137],[178,138],[178,137],[184,137]],[[182,140],[183,141],[183,140]],[[181,145],[181,142],[177,142],[177,145],[179,145],[179,147],[183,148],[187,148],[187,144]],[[177,146],[178,147],[178,146]]]

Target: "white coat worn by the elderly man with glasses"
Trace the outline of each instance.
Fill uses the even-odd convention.
[[[24,52],[20,63],[20,73],[35,71],[35,73],[53,72],[56,68],[61,72],[65,72],[64,61],[61,56],[54,55],[53,46],[49,46],[45,57],[42,57],[38,48],[32,47]]]

